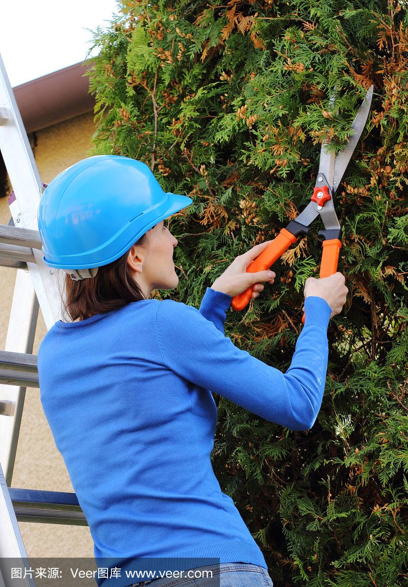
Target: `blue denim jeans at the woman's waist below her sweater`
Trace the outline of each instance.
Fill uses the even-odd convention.
[[[263,566],[246,562],[222,562],[219,565],[196,566],[189,569],[195,578],[159,578],[130,583],[134,587],[273,587],[273,582]],[[212,571],[200,576],[198,571]]]

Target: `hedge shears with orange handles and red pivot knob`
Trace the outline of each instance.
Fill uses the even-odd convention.
[[[320,216],[325,230],[318,233],[319,237],[324,237],[319,277],[324,278],[336,273],[342,243],[341,226],[334,209],[333,198],[367,122],[372,96],[373,86],[370,86],[353,120],[353,134],[345,141],[344,147],[336,157],[334,153],[328,152],[328,141],[322,142],[319,171],[311,201],[301,214],[298,214],[295,220],[291,220],[287,227],[282,228],[271,244],[254,261],[251,261],[247,266],[247,272],[255,273],[269,269],[300,235],[307,234],[310,224]],[[239,311],[245,308],[251,299],[253,287],[251,285],[242,294],[232,299],[231,305],[234,310]],[[304,322],[303,314],[302,323]]]

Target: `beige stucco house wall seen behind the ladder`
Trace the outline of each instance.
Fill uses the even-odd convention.
[[[37,131],[35,159],[44,183],[60,171],[87,157],[95,130],[93,113],[82,114]],[[10,219],[7,198],[0,198],[0,224]],[[4,349],[16,270],[0,266],[0,348]],[[39,312],[33,353],[46,333]],[[52,366],[50,366],[52,368]],[[0,416],[1,419],[6,416]],[[27,388],[12,487],[73,492],[64,461],[45,419],[38,389]],[[34,557],[93,557],[88,527],[19,522],[27,554]]]

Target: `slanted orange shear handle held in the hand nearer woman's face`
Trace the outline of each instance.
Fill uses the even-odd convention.
[[[256,273],[257,271],[265,271],[285,252],[287,249],[297,241],[298,237],[282,228],[276,238],[273,239],[270,245],[261,252],[256,259],[254,259],[247,266],[247,273]],[[234,310],[243,310],[248,305],[253,292],[253,285],[250,285],[242,294],[232,298],[231,305]]]

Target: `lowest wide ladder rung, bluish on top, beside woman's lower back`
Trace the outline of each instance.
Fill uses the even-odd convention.
[[[19,522],[88,525],[74,493],[10,487],[9,494]]]

